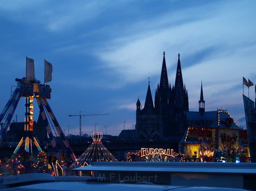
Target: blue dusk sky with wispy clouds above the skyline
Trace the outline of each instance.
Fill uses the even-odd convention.
[[[48,102],[66,134],[69,124],[70,133],[79,133],[79,118],[68,115],[81,110],[111,114],[82,118],[83,132],[97,123],[97,130],[107,126],[118,135],[123,121],[126,129],[136,124],[148,77],[155,95],[165,51],[171,84],[181,55],[190,111],[198,111],[202,80],[206,111],[227,108],[245,126],[242,76],[256,83],[255,7],[255,1],[1,1],[0,108],[14,79],[25,76],[26,56],[41,81],[45,58],[53,65]]]

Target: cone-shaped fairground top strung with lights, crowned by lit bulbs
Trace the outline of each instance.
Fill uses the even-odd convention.
[[[92,144],[84,151],[84,153],[77,159],[73,166],[82,167],[86,163],[96,161],[117,161],[117,159],[108,151],[101,143],[102,133],[92,133]]]

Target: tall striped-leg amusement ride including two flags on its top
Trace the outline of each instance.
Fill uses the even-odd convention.
[[[33,143],[36,145],[39,152],[42,151],[38,142],[33,137],[33,99],[35,98],[39,106],[39,112],[42,115],[48,137],[52,144],[54,152],[52,156],[56,157],[57,160],[61,160],[63,158],[61,155],[67,153],[71,160],[76,161],[76,156],[67,142],[60,124],[47,101],[47,99],[51,99],[52,89],[49,85],[41,84],[39,80],[35,79],[33,59],[26,58],[26,64],[26,77],[23,77],[22,79],[15,79],[17,87],[12,91],[9,101],[0,113],[0,123],[3,123],[3,127],[0,130],[0,146],[20,97],[25,97],[24,136],[21,138],[11,158],[15,157],[23,142],[25,142],[25,150],[29,154],[32,154]],[[51,72],[52,64],[45,61],[45,83],[52,80]]]

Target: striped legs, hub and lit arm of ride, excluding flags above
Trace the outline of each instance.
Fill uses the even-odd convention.
[[[17,81],[17,87],[14,90],[13,94],[11,94],[11,98],[9,99],[4,109],[0,113],[0,123],[4,121],[3,123],[4,125],[0,131],[0,146],[2,144],[3,138],[8,129],[8,126],[11,122],[11,118],[14,115],[14,112],[20,100],[20,97],[25,97],[25,100],[29,100],[29,99],[33,100],[33,98],[36,98],[36,101],[39,106],[40,114],[42,115],[46,130],[48,132],[48,136],[52,143],[53,150],[56,153],[57,160],[61,160],[60,152],[62,151],[62,153],[67,152],[70,155],[71,159],[73,161],[76,161],[77,160],[76,156],[72,151],[72,149],[70,148],[70,145],[67,142],[67,139],[64,136],[64,133],[61,130],[61,127],[54,113],[52,112],[52,109],[49,103],[46,100],[51,98],[52,89],[50,88],[50,86],[45,84],[40,84],[40,81],[36,79],[30,80],[29,82],[27,82],[26,78],[22,78],[22,79],[16,78],[15,81]],[[19,144],[17,145],[17,148],[14,151],[13,156],[17,153],[23,141],[25,141],[26,151],[32,152],[32,149],[30,149],[30,147],[32,146],[32,142],[34,142],[34,144],[36,145],[39,151],[42,151],[38,143],[36,142],[36,139],[32,136],[33,126],[30,125],[30,120],[31,120],[30,115],[33,114],[33,108],[29,108],[29,107],[31,107],[31,103],[30,102],[27,103],[26,101],[25,129],[24,129],[25,136],[20,140]],[[32,109],[32,114],[30,112],[30,109]],[[55,137],[53,136],[52,130],[54,131]],[[58,143],[58,146],[57,146],[57,143]]]

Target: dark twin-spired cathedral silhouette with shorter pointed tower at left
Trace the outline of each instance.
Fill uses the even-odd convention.
[[[155,104],[150,85],[146,94],[145,105],[136,103],[136,133],[138,139],[172,139],[180,141],[188,126],[186,112],[189,111],[189,98],[183,84],[180,53],[174,86],[168,82],[165,52],[162,63],[160,83],[155,90]]]

